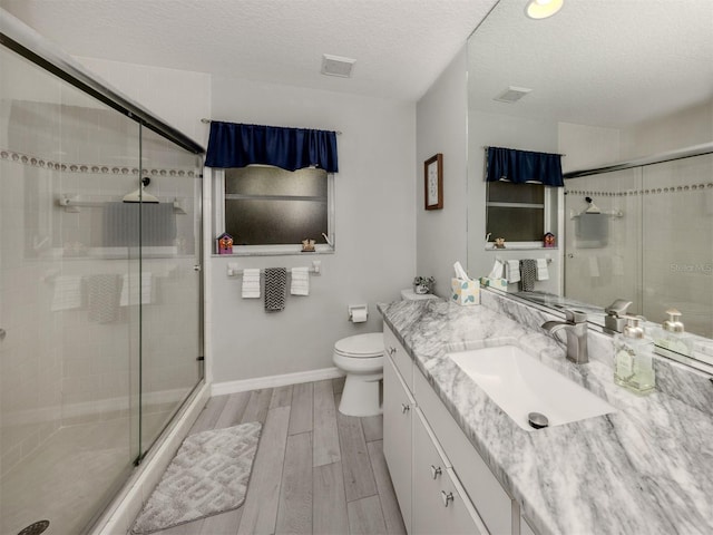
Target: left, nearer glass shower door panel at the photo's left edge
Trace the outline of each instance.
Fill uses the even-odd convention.
[[[0,71],[0,533],[82,533],[139,454],[139,259],[109,223],[140,128],[4,48]]]

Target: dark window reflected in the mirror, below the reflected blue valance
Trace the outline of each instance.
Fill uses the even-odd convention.
[[[486,233],[506,244],[541,246],[546,232],[557,232],[557,188],[543,184],[488,182]]]

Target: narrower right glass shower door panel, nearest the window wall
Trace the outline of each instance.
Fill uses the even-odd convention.
[[[141,454],[203,378],[199,165],[143,128]]]

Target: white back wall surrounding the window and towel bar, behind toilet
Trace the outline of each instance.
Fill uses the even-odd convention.
[[[334,254],[209,259],[214,382],[332,367],[336,340],[381,330],[378,302],[393,301],[416,274],[416,125],[411,103],[297,87],[213,78],[217,120],[341,130],[335,175]],[[241,299],[244,268],[310,265],[310,296],[287,295],[266,313],[262,300]],[[350,303],[368,303],[369,321],[348,321]]]

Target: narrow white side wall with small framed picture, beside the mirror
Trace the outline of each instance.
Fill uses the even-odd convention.
[[[434,292],[450,295],[453,263],[467,264],[467,55],[456,55],[417,105],[417,272],[436,278]],[[443,208],[426,211],[423,162],[443,154]]]

